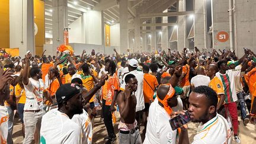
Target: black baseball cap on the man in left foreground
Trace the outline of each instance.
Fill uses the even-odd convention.
[[[70,84],[70,83],[63,84],[56,91],[55,95],[56,95],[57,103],[53,105],[57,105],[62,103],[63,101],[67,101],[73,96],[75,96],[76,94],[78,94],[79,92],[81,92],[81,86],[76,84]]]

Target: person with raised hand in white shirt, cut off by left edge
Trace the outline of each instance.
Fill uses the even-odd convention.
[[[4,105],[4,101],[8,100],[9,98],[9,84],[8,81],[14,79],[11,75],[14,73],[4,71],[2,69],[2,65],[0,63],[0,143],[7,143],[7,136],[8,136],[8,112],[7,108]]]

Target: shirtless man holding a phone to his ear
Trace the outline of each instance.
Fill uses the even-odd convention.
[[[135,119],[137,104],[135,92],[138,82],[133,74],[126,75],[124,82],[126,82],[125,89],[117,97],[120,111],[119,143],[142,143]]]

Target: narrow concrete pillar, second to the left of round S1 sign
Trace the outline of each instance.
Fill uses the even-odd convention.
[[[178,1],[178,11],[185,11],[185,0]],[[185,16],[178,16],[178,51],[182,52],[184,47],[186,46],[187,41],[187,33],[185,28]]]

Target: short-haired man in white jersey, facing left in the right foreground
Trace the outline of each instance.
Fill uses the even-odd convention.
[[[228,121],[217,114],[217,94],[212,88],[196,87],[188,101],[191,121],[200,122],[193,144],[231,143],[231,129]],[[184,144],[189,143],[187,129],[181,129],[179,141]]]

